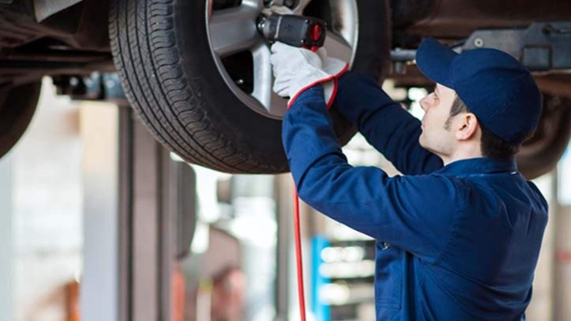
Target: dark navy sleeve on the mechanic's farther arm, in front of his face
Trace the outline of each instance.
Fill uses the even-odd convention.
[[[403,174],[428,174],[443,166],[437,155],[420,146],[420,121],[389,98],[371,76],[351,72],[341,76],[333,106]]]

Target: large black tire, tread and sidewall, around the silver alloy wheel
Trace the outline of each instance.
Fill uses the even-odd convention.
[[[225,172],[286,172],[282,121],[245,106],[216,67],[207,1],[111,1],[111,49],[127,99],[154,137],[187,162]],[[382,81],[390,45],[388,1],[356,3],[352,70]],[[335,110],[332,119],[346,143],[355,128]]]

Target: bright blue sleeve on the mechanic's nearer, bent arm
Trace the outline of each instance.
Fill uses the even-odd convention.
[[[282,135],[297,191],[309,206],[426,260],[444,251],[458,208],[458,186],[445,176],[389,178],[377,167],[350,166],[321,85],[299,95],[284,116]]]

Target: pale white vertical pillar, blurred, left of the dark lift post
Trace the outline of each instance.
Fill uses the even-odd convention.
[[[106,103],[81,109],[83,278],[81,319],[119,318],[119,112]]]

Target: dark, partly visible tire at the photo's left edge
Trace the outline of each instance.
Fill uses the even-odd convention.
[[[41,86],[38,81],[0,88],[0,157],[14,147],[30,125]]]

